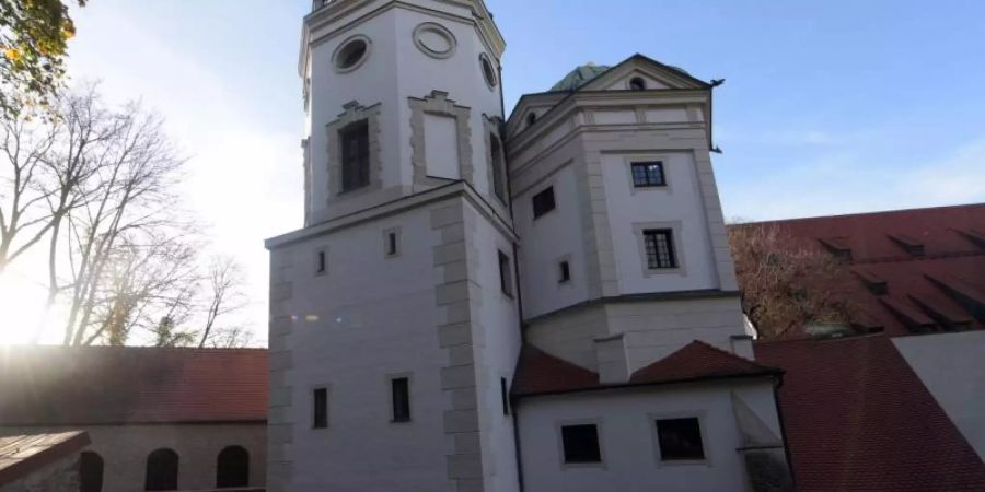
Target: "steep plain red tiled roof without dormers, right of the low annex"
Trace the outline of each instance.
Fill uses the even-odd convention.
[[[885,336],[755,344],[786,371],[800,491],[983,491],[985,464]]]

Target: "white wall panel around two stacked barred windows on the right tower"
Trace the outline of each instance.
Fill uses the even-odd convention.
[[[662,161],[667,187],[634,188],[630,161]],[[621,294],[717,289],[708,224],[692,153],[603,154],[602,173]],[[674,225],[681,269],[645,274],[634,224]]]

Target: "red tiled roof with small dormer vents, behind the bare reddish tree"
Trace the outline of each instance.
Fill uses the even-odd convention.
[[[985,204],[741,226],[768,225],[848,260],[855,276],[846,290],[861,302],[857,321],[866,329],[985,329]]]

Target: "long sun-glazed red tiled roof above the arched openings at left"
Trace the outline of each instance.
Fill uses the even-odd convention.
[[[266,418],[266,350],[0,347],[0,425]]]

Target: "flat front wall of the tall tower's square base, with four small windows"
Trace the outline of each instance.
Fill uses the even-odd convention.
[[[383,231],[399,226],[386,258]],[[449,490],[429,210],[418,209],[290,247],[297,491]],[[328,273],[314,258],[328,247]],[[387,375],[412,378],[410,423],[391,423]],[[328,429],[311,429],[313,388],[328,387]],[[386,473],[381,473],[381,471]]]

